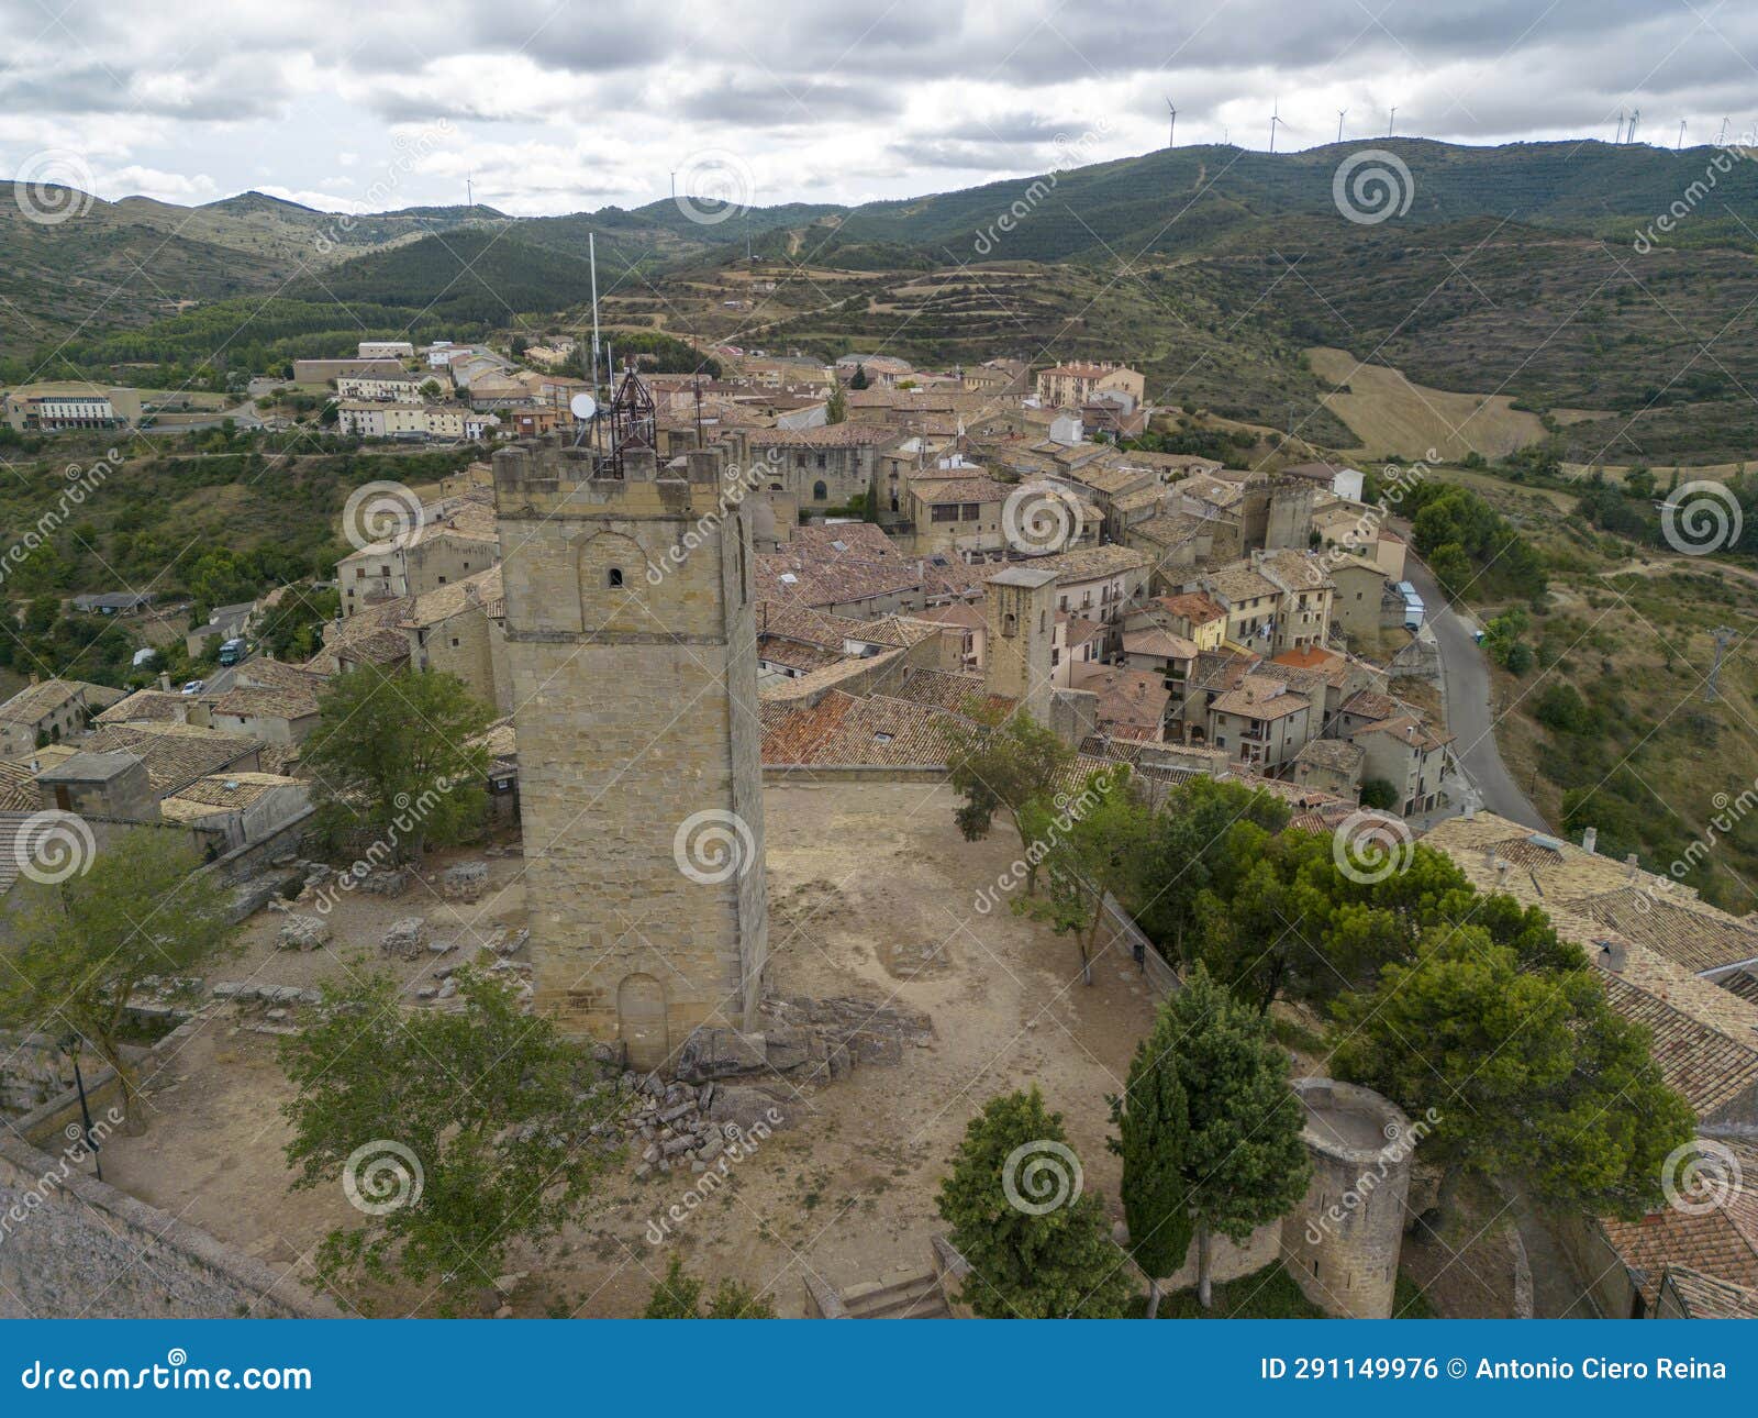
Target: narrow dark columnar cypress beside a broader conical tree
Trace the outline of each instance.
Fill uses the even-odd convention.
[[[1118,1129],[1109,1147],[1123,1159],[1129,1253],[1148,1277],[1150,1319],[1160,1312],[1160,1281],[1185,1263],[1195,1232],[1185,1193],[1190,1105],[1178,1077],[1178,1043],[1176,1022],[1162,1005],[1153,1029],[1136,1045],[1122,1096],[1109,1100]]]

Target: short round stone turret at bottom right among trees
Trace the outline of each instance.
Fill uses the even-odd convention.
[[[1331,1314],[1392,1312],[1417,1133],[1387,1098],[1331,1078],[1296,1078],[1313,1179],[1282,1226],[1282,1253],[1306,1298]]]

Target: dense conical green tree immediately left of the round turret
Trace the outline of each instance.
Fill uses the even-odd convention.
[[[1190,1131],[1181,1180],[1197,1239],[1197,1300],[1213,1298],[1213,1239],[1243,1242],[1306,1195],[1304,1114],[1268,1015],[1197,966],[1166,1001]]]

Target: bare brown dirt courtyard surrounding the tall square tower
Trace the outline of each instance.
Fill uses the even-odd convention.
[[[837,1082],[763,1080],[788,1126],[735,1163],[730,1180],[657,1247],[645,1239],[649,1219],[684,1202],[691,1177],[638,1182],[631,1149],[599,1205],[540,1253],[512,1261],[527,1272],[513,1291],[515,1314],[638,1314],[672,1247],[710,1288],[735,1277],[765,1291],[781,1314],[803,1311],[807,1268],[839,1288],[926,1270],[928,1239],[941,1230],[933,1196],[958,1137],[984,1100],[1034,1082],[1064,1114],[1085,1186],[1120,1214],[1116,1159],[1104,1147],[1106,1096],[1122,1087],[1146,1033],[1151,992],[1118,955],[1101,955],[1093,983],[1083,985],[1071,939],[1006,906],[977,911],[977,892],[997,883],[1018,839],[997,827],[988,841],[965,843],[953,806],[944,785],[765,790],[772,989],[923,1010],[933,1040],[907,1049],[902,1066],[863,1064]],[[432,895],[438,873],[469,855],[478,853],[431,862],[427,880],[397,901],[341,901],[334,941],[316,952],[274,950],[283,917],[258,913],[246,925],[246,957],[216,978],[311,985],[352,968],[360,950],[376,955],[390,920],[427,915],[432,934],[459,948],[394,962],[410,1006],[424,1008],[417,990],[434,969],[522,918],[515,855],[490,860],[489,892],[476,904]],[[311,1249],[355,1214],[339,1184],[288,1193],[280,1115],[288,1098],[274,1038],[216,1006],[153,1078],[146,1133],[105,1149],[105,1179],[309,1277]],[[380,1311],[429,1312],[425,1300],[385,1295]]]

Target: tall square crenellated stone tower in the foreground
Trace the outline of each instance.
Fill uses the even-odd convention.
[[[494,454],[536,1006],[657,1068],[768,950],[751,531],[719,450]]]

